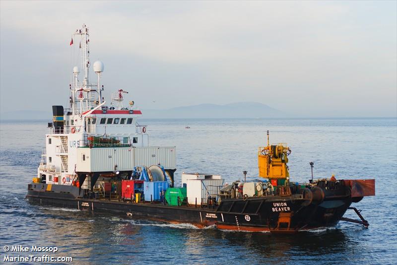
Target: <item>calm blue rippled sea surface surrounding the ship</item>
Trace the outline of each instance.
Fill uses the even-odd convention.
[[[76,264],[396,264],[396,119],[141,120],[140,124],[148,125],[150,145],[177,146],[177,185],[184,171],[221,174],[229,183],[241,179],[243,170],[249,180],[258,178],[257,150],[265,145],[269,130],[271,142],[287,142],[292,148],[289,167],[295,181],[310,178],[310,161],[318,178],[331,174],[375,178],[376,197],[354,204],[370,226],[341,221],[332,229],[280,236],[33,206],[25,196],[40,162],[47,121],[2,122],[0,261],[4,245],[40,245],[58,247],[53,256],[73,257]],[[356,218],[349,210],[345,216]]]

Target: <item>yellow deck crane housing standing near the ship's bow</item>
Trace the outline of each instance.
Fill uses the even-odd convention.
[[[284,185],[288,172],[288,155],[291,149],[286,143],[271,144],[269,143],[269,131],[267,131],[267,146],[259,147],[258,167],[259,176],[269,179],[274,186]]]

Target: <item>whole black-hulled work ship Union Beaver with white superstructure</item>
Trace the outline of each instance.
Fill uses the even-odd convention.
[[[53,106],[37,175],[27,185],[30,203],[236,231],[295,233],[339,221],[368,227],[351,204],[375,196],[374,179],[313,179],[312,171],[307,183],[294,183],[291,148],[270,144],[268,131],[258,149],[258,180],[228,184],[217,174],[183,172],[175,187],[176,147],[149,145],[148,127],[138,123],[142,112],[132,100],[123,105],[126,90],[106,103],[102,62],[93,64],[96,82],[89,81],[86,25],[73,36],[81,38],[82,81],[73,67],[68,108]],[[347,210],[359,219],[343,217]]]

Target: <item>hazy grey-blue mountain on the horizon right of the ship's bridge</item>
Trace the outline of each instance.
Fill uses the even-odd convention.
[[[167,110],[142,110],[144,118],[269,118],[285,117],[285,113],[258,102],[226,105],[199,104]]]

